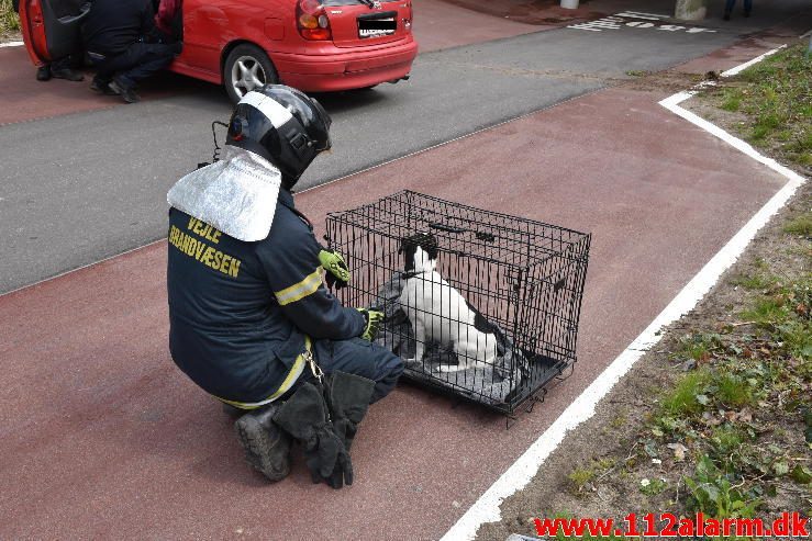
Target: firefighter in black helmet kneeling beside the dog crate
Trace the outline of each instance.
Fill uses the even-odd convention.
[[[400,358],[371,343],[382,315],[324,286],[349,272],[316,241],[290,190],[330,148],[330,115],[269,84],[237,104],[223,159],[169,191],[169,349],[194,383],[242,415],[247,462],[269,480],[301,441],[314,482],[352,484],[349,447]]]

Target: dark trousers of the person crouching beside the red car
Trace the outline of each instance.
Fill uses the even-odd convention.
[[[178,44],[136,42],[116,56],[101,56],[89,52],[96,66],[96,77],[102,82],[110,82],[118,76],[127,88],[137,81],[167,67],[178,53]]]

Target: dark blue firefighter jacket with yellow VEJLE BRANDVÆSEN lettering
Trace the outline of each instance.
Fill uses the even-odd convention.
[[[297,368],[304,335],[359,336],[364,316],[324,288],[320,250],[286,190],[268,237],[257,243],[171,208],[167,289],[175,363],[219,398],[257,403]]]

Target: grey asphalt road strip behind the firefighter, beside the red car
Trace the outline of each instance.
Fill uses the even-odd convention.
[[[320,97],[335,147],[300,189],[736,38],[732,30],[559,29],[421,55],[408,82]],[[171,98],[0,127],[0,293],[165,235],[167,189],[210,159],[210,124],[230,114],[221,89],[183,87]]]

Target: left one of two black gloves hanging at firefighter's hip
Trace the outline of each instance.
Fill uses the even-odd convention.
[[[304,383],[274,415],[304,448],[304,461],[313,483],[326,482],[333,488],[353,484],[353,463],[342,440],[335,435],[319,388]]]

